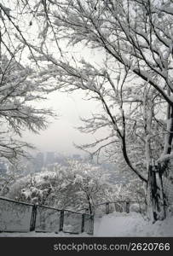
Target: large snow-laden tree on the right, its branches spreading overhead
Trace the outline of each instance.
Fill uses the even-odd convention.
[[[22,5],[23,1],[18,3]],[[49,63],[47,69],[42,65],[42,78],[54,78],[61,90],[85,90],[89,99],[101,102],[102,113],[83,119],[80,130],[107,128],[110,132],[82,148],[98,147],[94,150],[98,154],[102,148],[119,143],[126,164],[148,188],[153,146],[162,150],[157,160],[164,161],[170,157],[173,138],[172,4],[170,0],[27,2],[29,17],[37,17],[34,26],[41,25],[36,44],[26,41],[7,7],[1,6],[17,32],[16,38],[30,49],[33,61]],[[77,50],[82,48],[87,53],[95,49],[102,58],[95,63],[86,54],[78,55]],[[167,113],[160,117],[159,110],[165,110],[166,104]],[[135,154],[134,161],[130,158],[131,133],[136,145],[140,144],[138,139],[143,140],[139,150],[142,155],[145,148],[144,169],[136,165],[139,160]]]

